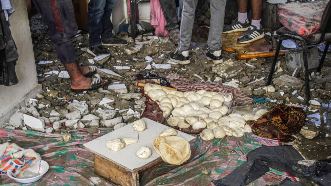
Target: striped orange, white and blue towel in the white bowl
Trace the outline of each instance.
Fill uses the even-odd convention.
[[[27,168],[32,172],[39,171],[41,158],[32,149],[24,149],[16,143],[7,142],[0,145],[0,156],[0,175],[11,170],[16,177],[20,178]]]

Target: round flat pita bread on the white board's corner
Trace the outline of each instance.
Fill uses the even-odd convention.
[[[153,141],[155,151],[171,165],[181,165],[191,157],[189,142],[178,136],[160,136]]]

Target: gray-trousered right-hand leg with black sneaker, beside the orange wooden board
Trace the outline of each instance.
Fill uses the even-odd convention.
[[[221,38],[224,25],[225,4],[226,0],[211,0],[210,2],[211,24],[207,41],[209,53],[206,56],[208,59],[213,60],[215,64],[223,62]]]

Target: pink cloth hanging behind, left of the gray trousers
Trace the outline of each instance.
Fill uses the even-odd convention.
[[[155,28],[155,35],[161,37],[168,36],[169,32],[165,29],[166,19],[163,15],[159,0],[151,0],[150,15],[151,25]]]

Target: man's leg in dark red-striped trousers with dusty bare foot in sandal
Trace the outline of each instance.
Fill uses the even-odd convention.
[[[72,44],[72,40],[77,34],[77,24],[72,3],[67,0],[33,0],[33,3],[48,25],[49,34],[54,42],[55,52],[70,75],[71,87],[88,89],[92,80],[91,78],[85,78],[79,71],[76,62],[77,57]],[[86,68],[88,67],[82,67],[82,71],[86,72]],[[106,82],[103,80],[103,83]]]

